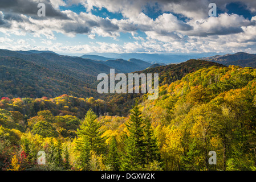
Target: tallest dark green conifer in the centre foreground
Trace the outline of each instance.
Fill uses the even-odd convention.
[[[129,134],[125,140],[122,169],[139,170],[144,167],[146,161],[143,118],[137,105],[131,110],[127,129]]]

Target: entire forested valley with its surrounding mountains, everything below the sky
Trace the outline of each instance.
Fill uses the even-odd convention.
[[[256,71],[227,66],[254,57],[229,56],[150,68],[136,59],[0,50],[0,169],[254,169]],[[98,93],[97,75],[111,69],[158,73],[159,97]],[[213,148],[210,166],[205,151]],[[36,163],[42,151],[46,162]]]

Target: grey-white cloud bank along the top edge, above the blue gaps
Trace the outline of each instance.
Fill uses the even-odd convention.
[[[239,0],[68,0],[70,5],[81,3],[87,11],[94,9],[94,7],[104,7],[110,12],[122,13],[128,18],[139,15],[145,6],[153,6],[157,3],[163,12],[171,11],[192,19],[206,18],[209,3],[216,3],[219,9],[225,10],[226,5],[231,2],[239,2]],[[251,12],[256,12],[256,1],[241,0],[240,2],[245,3]]]

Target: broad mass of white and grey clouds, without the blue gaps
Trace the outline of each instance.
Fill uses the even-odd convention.
[[[27,0],[29,1],[29,0]],[[32,35],[35,38],[46,39],[44,46],[33,46],[24,39],[15,40],[26,48],[52,49],[62,52],[226,52],[255,50],[256,16],[249,19],[237,14],[219,14],[218,17],[208,17],[209,0],[160,0],[159,9],[173,13],[163,13],[157,18],[150,18],[143,9],[153,5],[153,0],[45,0],[50,1],[55,9],[72,3],[82,3],[87,13],[75,13],[71,10],[56,11],[62,18],[38,18],[19,13],[0,11],[0,32],[6,37],[12,35]],[[218,1],[217,6],[225,9],[231,0]],[[256,1],[245,0],[247,8],[256,12]],[[90,12],[94,7],[106,8],[110,12],[122,13],[124,18],[109,19],[96,16]],[[56,13],[55,12],[55,13]],[[180,20],[174,14],[181,14],[186,20]],[[58,15],[59,15],[58,14]],[[63,18],[67,17],[67,18]],[[1,24],[2,23],[2,24]],[[140,30],[146,38],[137,34]],[[55,33],[74,38],[77,34],[85,34],[95,43],[78,46],[63,46],[58,43]],[[131,33],[131,42],[118,43],[121,32]],[[112,43],[97,42],[97,37],[113,38]],[[94,40],[93,40],[94,39]],[[12,39],[1,38],[0,43],[6,43],[9,48]],[[56,41],[54,41],[56,40]],[[25,41],[25,42],[24,42]],[[114,42],[114,43],[113,43]],[[32,44],[32,42],[30,41]],[[22,49],[22,45],[14,46]]]

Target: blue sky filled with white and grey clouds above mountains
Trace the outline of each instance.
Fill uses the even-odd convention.
[[[0,49],[256,53],[256,1],[1,0]]]

